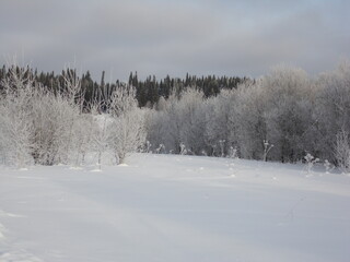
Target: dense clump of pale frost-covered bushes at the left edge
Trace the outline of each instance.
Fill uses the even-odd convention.
[[[71,127],[80,112],[70,99],[70,86],[54,93],[34,83],[30,68],[18,67],[12,67],[2,86],[1,107],[7,114],[0,120],[1,144],[11,146],[7,158],[21,166],[31,159],[43,165],[67,163],[73,144]]]

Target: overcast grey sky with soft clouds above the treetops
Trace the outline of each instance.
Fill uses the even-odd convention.
[[[95,80],[259,76],[288,63],[312,74],[350,57],[348,0],[1,0],[0,61],[65,66]]]

